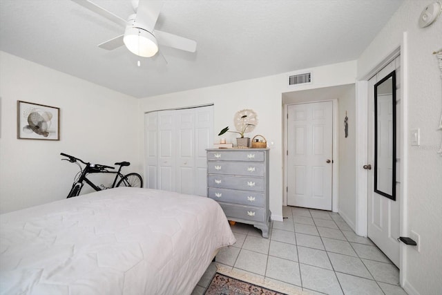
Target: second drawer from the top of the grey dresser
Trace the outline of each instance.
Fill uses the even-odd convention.
[[[265,171],[263,162],[208,162],[207,165],[211,174],[264,176]]]

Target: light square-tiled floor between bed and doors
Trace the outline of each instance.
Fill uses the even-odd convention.
[[[397,267],[338,213],[298,207],[282,213],[284,222],[273,222],[268,239],[251,225],[231,226],[236,244],[220,250],[193,294],[204,294],[216,265],[309,294],[406,294]]]

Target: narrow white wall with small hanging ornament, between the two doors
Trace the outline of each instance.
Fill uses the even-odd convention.
[[[356,93],[354,84],[339,97],[339,213],[355,229],[356,224]],[[344,118],[348,117],[348,137]]]

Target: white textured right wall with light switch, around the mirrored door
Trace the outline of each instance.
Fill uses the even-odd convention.
[[[358,59],[358,77],[403,44],[404,84],[403,235],[421,236],[421,252],[405,247],[404,288],[409,294],[441,294],[442,290],[442,157],[436,154],[442,132],[442,79],[432,52],[442,47],[442,17],[419,28],[421,11],[432,1],[405,1]],[[405,35],[403,34],[405,32]],[[404,38],[405,36],[405,38]],[[421,129],[421,146],[410,146],[410,129]]]

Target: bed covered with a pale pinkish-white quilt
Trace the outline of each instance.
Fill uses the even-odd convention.
[[[235,241],[210,198],[89,193],[0,215],[0,294],[191,294]]]

